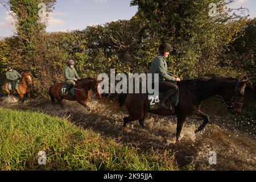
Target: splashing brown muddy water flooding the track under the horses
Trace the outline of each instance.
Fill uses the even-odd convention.
[[[247,99],[251,101],[251,97]],[[197,170],[256,169],[255,126],[251,125],[255,122],[253,118],[251,123],[241,127],[224,110],[210,121],[202,133],[195,135],[194,131],[201,121],[190,117],[184,125],[181,141],[175,142],[175,117],[148,114],[145,120],[146,129],[134,122],[129,123],[127,129],[123,130],[122,118],[127,115],[125,107],[120,108],[117,102],[107,99],[92,99],[88,105],[90,112],[71,101],[64,101],[63,107],[53,107],[48,100],[40,97],[24,104],[19,104],[16,98],[3,98],[0,103],[0,107],[42,111],[68,118],[84,128],[101,133],[103,137],[114,138],[119,143],[131,144],[143,151],[151,148],[176,151],[176,160],[180,167],[191,166]],[[214,99],[206,101],[202,108],[210,115],[217,113],[218,109],[220,104]],[[216,165],[209,164],[209,151],[216,152]]]

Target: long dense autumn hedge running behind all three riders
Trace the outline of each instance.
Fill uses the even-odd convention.
[[[51,11],[55,1],[47,2]],[[20,72],[32,72],[36,90],[46,93],[50,85],[64,80],[67,59],[76,60],[81,77],[110,73],[110,68],[117,73],[147,73],[159,44],[165,40],[174,49],[168,59],[170,69],[181,78],[255,74],[256,46],[251,39],[255,38],[255,19],[231,14],[221,0],[214,1],[219,14],[211,17],[210,2],[134,0],[131,5],[139,9],[132,19],[72,32],[46,33],[42,29],[33,34],[36,42],[31,42],[32,52],[24,52],[28,45],[20,42],[24,38],[21,33],[5,38],[0,41],[1,72],[5,72],[6,64],[13,64]],[[34,30],[34,24],[26,28]],[[26,36],[31,37],[30,31]]]

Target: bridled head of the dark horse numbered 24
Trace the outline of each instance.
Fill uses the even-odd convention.
[[[241,81],[236,80],[234,81],[234,86],[226,87],[222,90],[222,97],[224,98],[230,113],[241,113],[245,87],[249,81],[249,78],[243,78]]]

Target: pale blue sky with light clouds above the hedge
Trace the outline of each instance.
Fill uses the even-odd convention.
[[[256,17],[256,0],[235,0],[231,7],[240,6],[250,10],[250,18]],[[130,0],[57,0],[47,31],[82,30],[88,25],[130,19],[136,12]],[[0,37],[14,32],[13,18],[0,5]]]

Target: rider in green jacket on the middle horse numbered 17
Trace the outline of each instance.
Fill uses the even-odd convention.
[[[65,94],[68,94],[69,89],[72,88],[72,86],[75,86],[77,80],[80,79],[79,75],[76,72],[76,69],[74,68],[75,61],[74,60],[68,60],[68,66],[64,70],[65,75],[65,82],[64,84],[68,85],[68,88],[65,92]]]

